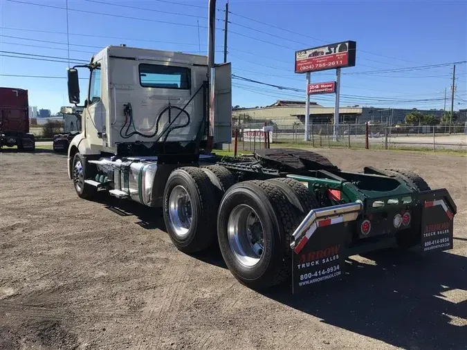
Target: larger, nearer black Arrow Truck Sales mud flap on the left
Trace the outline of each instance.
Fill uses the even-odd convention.
[[[336,219],[315,221],[293,249],[292,293],[336,281],[345,275],[345,239],[349,223]],[[334,221],[334,222],[333,222]]]

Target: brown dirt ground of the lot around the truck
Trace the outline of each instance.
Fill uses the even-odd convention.
[[[78,199],[66,158],[0,154],[0,349],[467,349],[467,158],[323,149],[343,169],[406,167],[457,203],[455,248],[385,250],[292,296],[178,252],[161,211]]]

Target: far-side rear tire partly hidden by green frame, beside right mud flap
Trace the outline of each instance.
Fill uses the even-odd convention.
[[[385,172],[390,176],[395,176],[396,178],[399,178],[405,183],[412,185],[412,187],[414,187],[418,192],[431,190],[428,183],[426,183],[426,181],[423,180],[423,178],[419,174],[411,172],[408,169],[397,169],[397,168],[396,169],[385,169]],[[421,223],[421,217],[418,219],[414,217],[412,219],[412,222]],[[402,249],[412,248],[416,246],[417,244],[419,244],[420,240],[421,240],[421,227],[419,225],[412,226],[410,228],[401,230],[396,233],[397,245],[399,246],[399,248],[402,248]]]

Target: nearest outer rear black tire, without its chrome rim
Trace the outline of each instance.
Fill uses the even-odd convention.
[[[262,223],[264,250],[253,266],[242,264],[229,242],[230,213],[239,205],[252,208]],[[297,223],[297,210],[273,183],[244,181],[230,187],[219,208],[217,237],[223,259],[232,275],[254,289],[284,282],[291,272],[289,237]]]

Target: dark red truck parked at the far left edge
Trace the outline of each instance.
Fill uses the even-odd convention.
[[[27,90],[0,87],[0,148],[35,149],[34,135],[29,133],[28,107]]]

